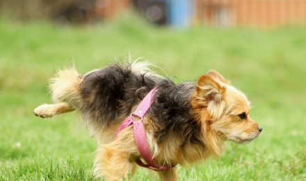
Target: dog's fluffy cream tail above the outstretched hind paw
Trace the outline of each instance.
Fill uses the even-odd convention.
[[[49,90],[52,100],[56,103],[67,102],[72,107],[77,107],[80,100],[81,75],[72,68],[58,70],[56,77],[51,79]]]

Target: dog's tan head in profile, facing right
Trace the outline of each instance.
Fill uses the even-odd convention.
[[[218,139],[249,143],[256,139],[261,127],[249,116],[250,102],[218,72],[211,70],[198,79],[192,100],[203,125],[203,132]]]

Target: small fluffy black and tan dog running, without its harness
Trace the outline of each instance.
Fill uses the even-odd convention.
[[[174,84],[147,63],[113,63],[80,75],[74,68],[58,72],[50,90],[56,104],[42,104],[36,116],[49,118],[81,111],[98,143],[95,176],[122,180],[134,175],[141,158],[133,127],[115,133],[145,95],[158,87],[154,103],[143,118],[147,145],[154,161],[174,167],[159,171],[161,180],[178,180],[177,164],[186,166],[221,155],[225,141],[245,144],[256,139],[261,127],[248,115],[247,97],[218,72],[202,74],[198,82]],[[136,118],[135,118],[136,119]]]

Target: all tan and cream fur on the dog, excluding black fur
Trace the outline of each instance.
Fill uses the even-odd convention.
[[[147,71],[146,64],[135,63],[134,71]],[[80,109],[83,102],[80,102],[79,84],[86,79],[86,75],[81,77],[74,68],[59,71],[57,77],[51,79],[50,85],[52,100],[58,104],[42,104],[35,109],[35,115],[49,118]],[[250,103],[247,98],[216,71],[211,70],[198,79],[191,95],[191,105],[196,121],[202,127],[199,139],[204,143],[204,147],[186,143],[182,148],[182,141],[171,134],[163,143],[158,144],[154,130],[161,127],[154,124],[154,118],[147,115],[143,118],[147,143],[157,164],[187,166],[211,155],[221,155],[227,140],[248,143],[259,136],[258,124],[248,116]],[[136,107],[133,110],[135,109]],[[243,112],[247,114],[245,120],[237,116]],[[83,118],[90,119],[90,115],[83,115]],[[120,118],[121,122],[123,120],[124,116]],[[122,180],[129,172],[134,175],[137,168],[135,161],[141,156],[134,140],[132,126],[120,132],[118,139],[114,140],[119,124],[95,129],[94,125],[90,125],[90,121],[86,123],[90,134],[95,136],[98,143],[95,176],[104,177],[106,180]],[[177,167],[159,172],[159,177],[161,180],[178,180]]]

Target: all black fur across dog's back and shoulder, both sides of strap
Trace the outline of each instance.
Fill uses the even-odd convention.
[[[155,101],[147,113],[161,128],[155,133],[157,141],[161,143],[172,134],[182,139],[182,146],[188,141],[202,145],[197,139],[200,125],[195,121],[191,108],[193,82],[176,85],[170,79],[156,79],[150,74],[131,71],[131,65],[115,63],[86,75],[81,83],[83,107],[79,109],[83,115],[96,113],[90,118],[95,126],[108,126],[113,121],[119,121],[120,116],[129,116],[131,108],[156,86],[159,91],[154,95]]]

